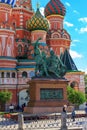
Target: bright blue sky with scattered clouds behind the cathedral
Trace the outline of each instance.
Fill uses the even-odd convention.
[[[50,0],[32,0],[36,9],[40,3],[41,11]],[[66,7],[64,28],[71,35],[71,56],[78,68],[87,73],[87,0],[61,0]]]

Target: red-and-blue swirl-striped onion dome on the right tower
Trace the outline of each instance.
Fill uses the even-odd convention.
[[[66,9],[60,0],[50,0],[50,2],[45,7],[45,16],[58,14],[65,16]]]

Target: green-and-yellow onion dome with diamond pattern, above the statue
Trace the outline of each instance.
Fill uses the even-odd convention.
[[[27,21],[27,28],[30,31],[35,31],[35,30],[48,31],[49,22],[46,18],[44,18],[41,15],[39,8],[37,8],[35,15],[30,20]]]

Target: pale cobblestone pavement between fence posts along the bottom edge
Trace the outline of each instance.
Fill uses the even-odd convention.
[[[76,118],[75,122],[67,119],[67,126],[69,130],[87,130],[87,118]],[[60,127],[61,119],[29,120],[24,123],[24,130],[59,130]],[[18,130],[18,122],[0,116],[0,130]]]

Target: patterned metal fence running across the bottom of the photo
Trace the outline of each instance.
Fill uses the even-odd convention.
[[[18,120],[0,116],[0,130],[60,130],[61,115],[23,115],[18,116]],[[75,121],[71,115],[66,118],[67,129],[87,130],[87,117],[76,117]]]

